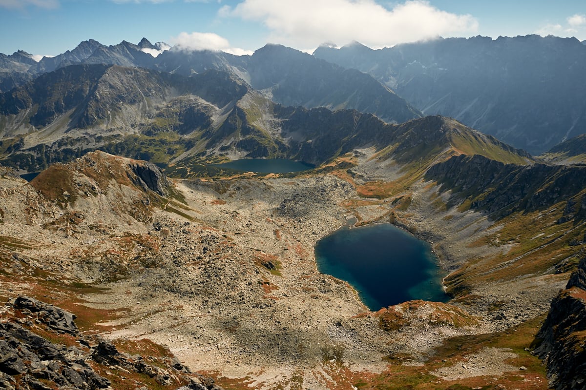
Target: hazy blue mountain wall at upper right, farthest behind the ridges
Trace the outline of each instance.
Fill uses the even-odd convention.
[[[373,75],[425,115],[533,154],[586,132],[586,47],[575,38],[478,36],[381,50],[355,42],[314,56]]]

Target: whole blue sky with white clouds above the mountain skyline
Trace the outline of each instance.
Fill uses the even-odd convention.
[[[553,34],[586,40],[584,0],[0,0],[0,53],[55,56],[95,39],[251,54],[267,43],[311,53],[434,37]]]

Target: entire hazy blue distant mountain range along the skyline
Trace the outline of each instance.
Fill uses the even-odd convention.
[[[478,36],[380,50],[355,42],[340,49],[321,46],[313,56],[273,44],[252,56],[162,50],[167,48],[147,39],[115,46],[88,40],[39,63],[24,52],[2,54],[0,91],[70,64],[115,64],[183,75],[214,68],[242,78],[283,105],[357,109],[394,123],[421,113],[449,116],[533,154],[585,129],[580,64],[586,49],[576,39]]]

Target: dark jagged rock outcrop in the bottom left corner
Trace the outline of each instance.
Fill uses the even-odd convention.
[[[148,389],[152,387],[149,383],[155,383],[156,388],[189,384],[181,388],[222,390],[214,379],[192,374],[173,357],[131,356],[100,336],[84,336],[74,318],[63,309],[28,296],[9,302],[0,320],[0,388],[105,389],[114,386],[114,379],[103,375],[116,377],[115,372],[120,370],[134,378],[127,379],[134,382],[130,388]],[[77,346],[49,340],[67,342],[70,336],[76,336]],[[107,368],[107,374],[98,374],[94,367]],[[154,382],[143,382],[141,375]]]

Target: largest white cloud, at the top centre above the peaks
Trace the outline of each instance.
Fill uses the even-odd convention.
[[[374,0],[244,0],[234,8],[222,7],[218,15],[263,22],[273,42],[295,47],[352,40],[383,47],[478,30],[471,15],[441,11],[421,0],[393,8]]]

